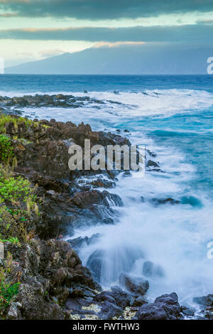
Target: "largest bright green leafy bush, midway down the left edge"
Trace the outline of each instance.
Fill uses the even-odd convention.
[[[26,242],[32,215],[39,215],[35,187],[0,165],[0,238],[13,243]]]

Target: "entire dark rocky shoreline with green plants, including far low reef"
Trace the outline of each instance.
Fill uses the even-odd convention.
[[[6,286],[18,284],[18,290],[7,300],[8,303],[1,301],[0,293],[1,318],[195,318],[197,311],[180,306],[174,292],[159,296],[151,303],[146,298],[148,281],[127,274],[121,274],[120,286],[102,291],[89,269],[82,266],[77,251],[82,242],[92,240],[72,239],[72,235],[77,228],[86,225],[116,223],[114,207],[121,206],[122,201],[107,188],[116,185],[119,171],[71,172],[68,148],[73,142],[83,146],[84,139],[90,139],[92,145],[103,146],[129,145],[129,139],[110,132],[92,131],[89,124],[83,122],[77,126],[54,119],[50,122],[30,121],[9,114],[20,107],[75,107],[85,101],[89,103],[90,99],[65,95],[0,97],[1,110],[7,113],[0,114],[2,178],[13,181],[13,191],[9,188],[6,195],[0,193],[0,233],[6,258],[1,260],[0,278],[5,280]],[[147,154],[146,168],[160,171],[155,154],[150,151]],[[26,189],[24,182],[28,182],[25,199],[15,193],[14,182],[17,180],[23,180],[25,188],[22,185],[21,189]],[[99,188],[106,190],[100,191]],[[32,196],[31,203],[26,200],[28,193]],[[172,198],[157,204],[165,203],[178,204]],[[156,200],[154,204],[157,205]],[[12,224],[17,225],[15,230]],[[21,231],[19,226],[22,226]],[[69,242],[63,240],[65,235],[71,236]],[[213,318],[213,295],[195,298],[195,302],[201,306],[196,318]]]

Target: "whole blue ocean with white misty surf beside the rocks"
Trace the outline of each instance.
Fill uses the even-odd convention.
[[[143,263],[153,262],[160,271],[148,279],[151,300],[175,291],[181,303],[192,303],[194,296],[213,293],[213,259],[207,256],[213,240],[213,76],[0,76],[0,95],[54,93],[87,95],[104,104],[26,108],[23,114],[89,123],[93,130],[119,129],[132,144],[155,152],[163,171],[119,176],[116,188],[109,189],[124,203],[116,208],[119,221],[75,233],[101,235],[80,251],[83,263],[94,252],[102,254],[101,283],[109,287],[122,271],[143,276]],[[180,204],[153,205],[153,199],[166,198]]]

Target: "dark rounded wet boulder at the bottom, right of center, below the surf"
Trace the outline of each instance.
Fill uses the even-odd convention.
[[[180,317],[180,305],[176,293],[165,294],[139,308],[137,320],[177,320]]]

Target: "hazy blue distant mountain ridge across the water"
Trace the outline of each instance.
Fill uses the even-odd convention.
[[[207,58],[213,48],[140,45],[89,48],[12,66],[6,74],[207,74]]]

